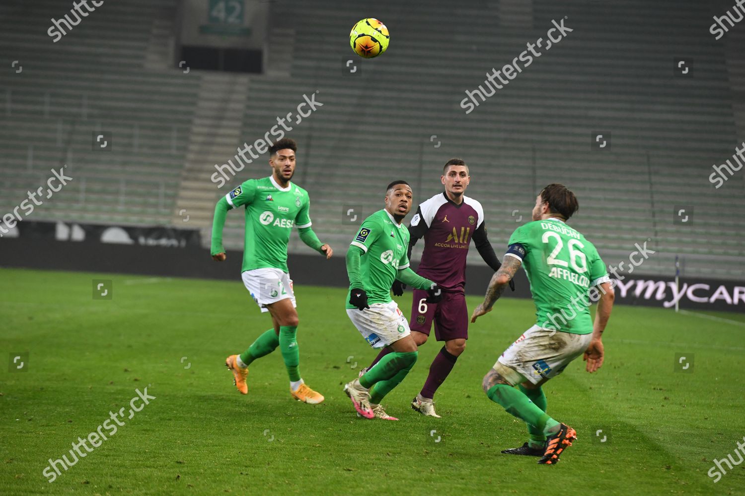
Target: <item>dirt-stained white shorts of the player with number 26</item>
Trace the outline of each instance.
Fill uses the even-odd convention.
[[[514,379],[505,375],[509,375],[509,369],[512,369],[538,384],[542,379],[551,379],[562,373],[569,362],[587,350],[591,340],[592,333],[572,334],[533,326],[504,350],[494,368],[507,381],[522,382],[514,373]],[[500,364],[509,369],[504,370]]]

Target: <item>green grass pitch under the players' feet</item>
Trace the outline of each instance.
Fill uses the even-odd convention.
[[[111,300],[92,299],[92,279],[113,281]],[[10,363],[0,372],[0,493],[745,492],[745,463],[718,483],[707,476],[712,460],[734,454],[745,436],[744,315],[711,314],[732,323],[617,306],[599,373],[586,373],[580,359],[545,386],[548,413],[579,439],[557,466],[539,466],[499,453],[527,434],[481,390],[498,355],[533,324],[530,300],[504,298],[472,324],[465,354],[437,393],[442,419],[409,406],[440,349],[433,335],[384,400],[401,421],[383,422],[358,419],[342,393],[375,356],[346,317],[346,292],[295,291],[300,370],[326,396],[317,406],[291,399],[279,351],[250,367],[248,396],[232,385],[226,355],[270,327],[238,274],[223,282],[0,270],[2,360],[29,353],[25,372],[10,372]],[[397,300],[408,315],[410,293]],[[469,297],[470,309],[477,303]],[[694,354],[691,373],[674,371],[676,352]],[[128,409],[144,387],[156,399],[48,483],[48,460],[110,410]]]

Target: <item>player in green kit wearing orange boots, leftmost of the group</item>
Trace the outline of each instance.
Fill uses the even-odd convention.
[[[221,198],[215,207],[211,253],[217,261],[225,260],[222,236],[226,213],[232,208],[244,207],[246,234],[241,277],[261,312],[269,312],[273,323],[248,350],[240,355],[229,355],[225,364],[233,374],[235,387],[247,394],[248,366],[279,346],[290,377],[291,395],[301,402],[317,404],[323,402],[323,395],[305,384],[298,369],[298,318],[287,267],[290,231],[293,226],[297,227],[300,239],[326,259],[332,256],[333,250],[320,242],[311,229],[308,192],[290,181],[295,173],[297,144],[283,138],[276,141],[269,152],[272,175],[245,181]]]

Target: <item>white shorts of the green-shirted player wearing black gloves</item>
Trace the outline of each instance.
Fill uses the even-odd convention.
[[[346,309],[349,320],[373,348],[387,347],[411,334],[409,323],[395,301],[372,303],[369,309]]]

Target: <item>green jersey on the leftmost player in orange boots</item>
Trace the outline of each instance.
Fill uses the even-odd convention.
[[[269,176],[245,181],[225,199],[232,207],[246,208],[241,271],[273,267],[288,272],[290,231],[311,225],[308,192],[292,182],[283,189]]]

